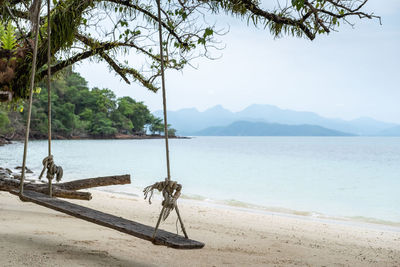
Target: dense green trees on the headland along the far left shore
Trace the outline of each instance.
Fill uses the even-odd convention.
[[[47,135],[47,88],[44,83],[39,86],[43,89],[36,90],[31,121],[32,135],[38,138]],[[27,110],[14,112],[20,124],[26,121]],[[0,131],[8,124],[6,113],[0,113]],[[52,82],[54,136],[112,137],[118,133],[145,134],[147,128],[160,134],[163,127],[162,120],[155,118],[143,102],[131,97],[117,99],[109,89],[89,90],[86,80],[71,69]]]

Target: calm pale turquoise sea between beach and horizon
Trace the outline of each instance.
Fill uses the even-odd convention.
[[[21,165],[23,144],[0,147],[0,166]],[[39,173],[47,142],[29,143]],[[185,198],[273,212],[400,225],[398,137],[193,137],[171,139],[172,179]],[[53,141],[64,180],[131,174],[108,187],[139,194],[166,177],[157,140]]]

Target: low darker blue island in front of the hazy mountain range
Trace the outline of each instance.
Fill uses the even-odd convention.
[[[354,136],[317,125],[237,121],[228,126],[209,127],[196,136]]]

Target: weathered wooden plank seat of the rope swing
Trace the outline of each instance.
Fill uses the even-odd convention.
[[[12,191],[11,193],[18,195],[17,191]],[[204,243],[186,239],[182,236],[161,229],[157,231],[157,236],[155,240],[153,240],[152,236],[154,227],[129,221],[121,217],[69,203],[57,198],[49,198],[47,195],[34,191],[24,191],[24,195],[21,199],[144,240],[152,241],[156,245],[163,245],[176,249],[199,249],[204,247]]]

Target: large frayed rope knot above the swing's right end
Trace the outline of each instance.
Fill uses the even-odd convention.
[[[151,204],[151,198],[153,197],[154,190],[162,193],[163,201],[161,205],[164,207],[164,212],[161,214],[163,221],[165,221],[171,211],[176,207],[176,201],[181,195],[182,185],[178,184],[176,181],[170,181],[165,178],[165,181],[158,182],[153,185],[147,186],[144,190],[144,199],[149,197],[149,203]]]

